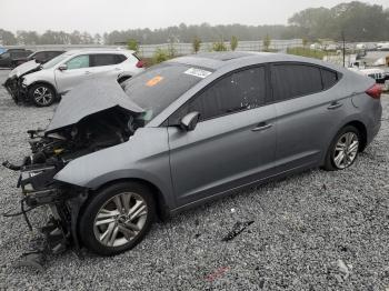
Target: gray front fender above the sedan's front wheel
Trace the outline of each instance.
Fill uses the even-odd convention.
[[[141,179],[156,185],[174,207],[169,167],[167,128],[141,128],[129,141],[69,162],[56,180],[98,189],[119,179]]]

